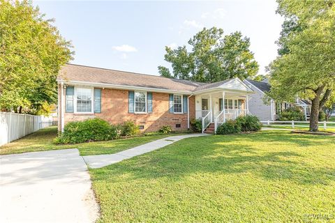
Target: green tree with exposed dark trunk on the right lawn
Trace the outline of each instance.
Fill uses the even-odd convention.
[[[278,0],[285,17],[278,58],[270,64],[271,98],[312,102],[310,131],[318,131],[318,115],[334,93],[335,5],[328,1]]]

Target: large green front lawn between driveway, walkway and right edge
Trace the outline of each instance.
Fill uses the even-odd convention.
[[[98,222],[334,222],[334,160],[335,137],[264,131],[183,139],[90,173]]]

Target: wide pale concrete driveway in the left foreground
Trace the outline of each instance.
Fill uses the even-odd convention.
[[[95,222],[98,204],[77,149],[0,156],[0,222]]]

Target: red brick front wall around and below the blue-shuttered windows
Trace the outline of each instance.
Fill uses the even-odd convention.
[[[195,97],[189,99],[190,120],[195,118]],[[144,125],[144,130],[154,132],[163,125],[170,125],[172,130],[187,130],[187,113],[169,113],[169,94],[152,93],[152,113],[130,114],[128,113],[128,90],[103,89],[101,96],[101,113],[84,115],[65,113],[65,123],[68,121],[82,121],[86,118],[102,118],[112,124],[124,121],[135,121],[137,125]],[[176,128],[181,124],[181,128]]]

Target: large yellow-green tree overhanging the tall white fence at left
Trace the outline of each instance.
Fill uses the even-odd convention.
[[[57,102],[71,45],[31,1],[0,0],[0,109],[41,114]]]

